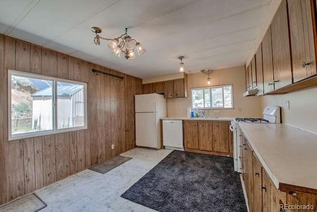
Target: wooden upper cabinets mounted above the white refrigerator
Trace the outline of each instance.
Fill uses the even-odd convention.
[[[166,99],[187,97],[187,74],[184,78],[143,84],[143,94],[164,94]]]

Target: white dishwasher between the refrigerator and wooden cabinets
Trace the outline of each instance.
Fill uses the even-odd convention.
[[[163,120],[163,145],[165,148],[184,150],[182,120]]]

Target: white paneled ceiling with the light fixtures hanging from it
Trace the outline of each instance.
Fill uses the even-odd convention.
[[[270,0],[0,0],[0,33],[141,78],[245,64]],[[147,53],[111,55],[101,36],[124,33]]]

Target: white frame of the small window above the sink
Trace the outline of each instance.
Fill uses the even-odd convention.
[[[231,86],[231,107],[224,107],[224,92],[223,87]],[[210,98],[211,98],[211,106],[212,106],[212,88],[222,88],[222,100],[223,107],[193,107],[193,90],[203,90],[203,98],[204,98],[204,106],[205,106],[205,91],[204,89],[210,89]],[[225,110],[225,109],[234,109],[234,95],[233,95],[233,84],[224,84],[224,85],[214,85],[214,86],[206,86],[206,87],[193,87],[190,89],[191,95],[191,108],[198,110]]]

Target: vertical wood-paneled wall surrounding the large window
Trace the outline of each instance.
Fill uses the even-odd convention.
[[[88,130],[8,141],[7,69],[87,82]],[[140,78],[0,34],[0,204],[133,148],[141,93]]]

